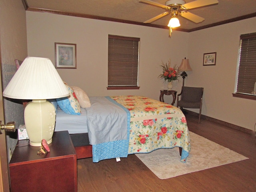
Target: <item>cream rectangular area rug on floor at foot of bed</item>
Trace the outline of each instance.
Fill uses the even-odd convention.
[[[136,154],[136,156],[160,179],[248,159],[192,132],[190,132],[190,142],[191,152],[186,163],[180,162],[178,147],[158,149],[148,154]]]

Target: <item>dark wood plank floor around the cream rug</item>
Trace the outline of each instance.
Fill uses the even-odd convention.
[[[248,160],[161,180],[134,154],[92,163],[78,160],[78,192],[256,192],[256,136],[186,115],[190,131],[230,148]]]

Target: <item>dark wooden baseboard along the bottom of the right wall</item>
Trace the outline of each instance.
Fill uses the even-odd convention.
[[[187,110],[187,109],[186,109],[186,112],[188,112],[188,114],[191,114],[191,115],[199,116],[198,113]],[[249,134],[251,134],[252,131],[253,131],[253,130],[250,130],[250,129],[247,129],[247,128],[244,128],[244,127],[240,127],[240,126],[237,126],[237,125],[234,125],[234,124],[222,121],[222,120],[218,120],[218,119],[215,119],[215,118],[212,118],[212,117],[208,117],[208,116],[202,115],[202,114],[201,114],[201,119],[209,120],[209,121],[221,124],[221,125],[228,126],[232,129],[236,129],[236,130],[239,130],[239,131],[242,131],[242,132],[249,133]]]

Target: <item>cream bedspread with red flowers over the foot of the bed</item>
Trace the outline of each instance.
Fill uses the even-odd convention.
[[[148,153],[159,148],[182,148],[181,161],[190,152],[186,118],[172,105],[143,96],[110,96],[130,111],[128,154]]]

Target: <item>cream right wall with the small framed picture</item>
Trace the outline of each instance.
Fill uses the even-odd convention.
[[[193,71],[186,79],[187,86],[204,87],[202,114],[251,130],[256,123],[256,101],[235,98],[232,93],[240,34],[256,32],[255,23],[256,17],[190,32],[188,55]],[[216,66],[203,66],[203,54],[210,52],[217,52]]]

